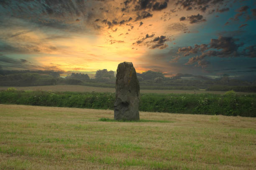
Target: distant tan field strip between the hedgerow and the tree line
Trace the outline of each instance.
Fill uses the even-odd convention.
[[[30,87],[15,87],[17,90],[43,90],[43,91],[70,91],[70,92],[115,92],[114,88],[106,87],[90,87],[83,85],[46,85],[46,86],[30,86]],[[8,87],[1,87],[0,90],[7,90]],[[213,93],[213,94],[225,94],[223,91],[205,91],[205,90],[140,90],[141,93],[187,93],[187,94],[201,94],[201,93]],[[238,92],[241,94],[248,94],[248,92]]]

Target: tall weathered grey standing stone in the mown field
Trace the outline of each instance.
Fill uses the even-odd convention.
[[[118,65],[115,81],[115,120],[140,120],[140,85],[132,62]]]

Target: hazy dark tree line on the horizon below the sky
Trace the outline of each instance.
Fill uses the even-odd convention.
[[[115,72],[107,69],[97,70],[95,77],[84,73],[71,73],[65,77],[64,72],[53,70],[0,70],[0,86],[40,86],[40,85],[88,85],[97,87],[115,87]],[[177,74],[166,77],[162,72],[148,70],[137,73],[140,86],[145,89],[198,89],[256,91],[256,82],[247,82],[223,75],[218,79],[191,74]],[[183,79],[183,77],[191,77]],[[231,87],[232,86],[232,87]],[[188,88],[185,88],[188,87]],[[239,88],[241,87],[241,88]],[[181,89],[181,90],[182,90]]]

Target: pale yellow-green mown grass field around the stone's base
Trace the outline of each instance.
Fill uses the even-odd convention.
[[[0,105],[0,169],[256,169],[256,118]]]

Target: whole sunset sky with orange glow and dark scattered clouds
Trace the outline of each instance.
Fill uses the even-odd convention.
[[[0,69],[256,77],[255,0],[1,0]]]

